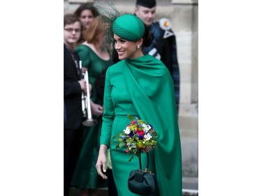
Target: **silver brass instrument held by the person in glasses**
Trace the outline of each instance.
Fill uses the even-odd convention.
[[[80,70],[82,71],[82,61],[80,61]],[[87,95],[84,95],[82,93],[82,110],[83,114],[86,117],[86,120],[82,122],[83,126],[95,126],[97,124],[97,121],[92,119],[92,112],[91,112],[91,105],[90,105],[90,94],[89,94],[89,79],[88,79],[88,73],[87,70],[85,71],[84,80],[87,84]]]

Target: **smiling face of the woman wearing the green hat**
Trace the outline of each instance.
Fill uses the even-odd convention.
[[[114,34],[115,50],[117,50],[119,60],[136,59],[141,56],[141,50],[137,49],[138,41],[124,40]]]

